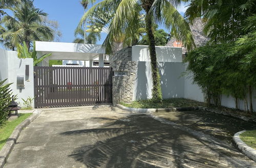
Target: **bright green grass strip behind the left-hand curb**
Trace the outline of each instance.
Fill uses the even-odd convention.
[[[5,145],[7,139],[12,134],[13,130],[16,128],[17,125],[22,123],[25,119],[27,119],[32,113],[27,114],[19,114],[18,118],[13,121],[6,121],[1,127],[0,127],[0,150]]]

